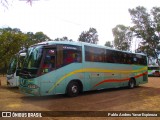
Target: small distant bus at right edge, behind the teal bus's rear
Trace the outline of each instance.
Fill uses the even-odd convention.
[[[159,77],[160,66],[148,66],[148,76]]]

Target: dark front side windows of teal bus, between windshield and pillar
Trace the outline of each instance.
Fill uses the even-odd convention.
[[[71,63],[82,62],[81,47],[73,45],[57,45],[45,49],[41,73],[48,73]]]

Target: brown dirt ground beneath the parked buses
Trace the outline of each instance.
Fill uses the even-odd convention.
[[[21,94],[18,88],[7,87],[5,77],[0,77],[0,81],[0,111],[160,111],[160,78],[158,77],[149,77],[147,84],[134,89],[117,88],[85,92],[73,98],[64,95],[29,97]],[[63,119],[68,120],[68,118]],[[82,118],[69,117],[69,119]],[[133,117],[100,117],[99,119],[121,120],[133,119]],[[158,118],[154,119],[158,120]]]

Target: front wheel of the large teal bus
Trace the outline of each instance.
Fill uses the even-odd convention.
[[[69,97],[76,97],[78,96],[79,92],[80,92],[80,87],[79,84],[75,81],[72,81],[68,84],[67,86],[67,95]]]

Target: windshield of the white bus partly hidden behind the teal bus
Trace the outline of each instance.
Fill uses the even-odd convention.
[[[12,57],[12,59],[10,61],[9,68],[8,68],[8,71],[7,71],[8,75],[15,73],[16,65],[17,65],[16,63],[17,63],[17,57],[15,55],[15,56]]]

